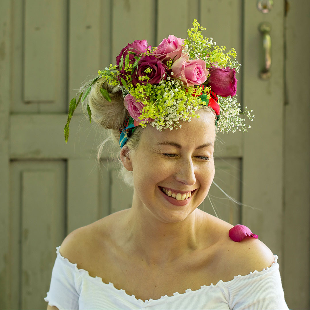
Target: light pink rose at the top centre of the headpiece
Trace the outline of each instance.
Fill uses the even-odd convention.
[[[153,51],[153,55],[157,56],[164,64],[166,64],[166,61],[169,59],[177,60],[182,55],[183,43],[184,39],[177,38],[170,34],[168,39],[163,39],[156,47],[156,50]]]

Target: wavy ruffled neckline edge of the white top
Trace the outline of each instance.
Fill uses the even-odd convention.
[[[142,299],[137,299],[136,297],[135,297],[135,295],[134,294],[132,294],[132,295],[129,295],[129,294],[127,294],[126,293],[126,290],[123,290],[123,289],[117,289],[115,286],[114,286],[114,284],[112,283],[112,282],[109,282],[109,283],[105,283],[104,281],[102,281],[102,278],[101,277],[92,277],[92,276],[90,276],[89,275],[89,272],[87,271],[87,270],[85,270],[85,269],[79,269],[78,267],[77,267],[77,263],[71,263],[70,261],[69,261],[69,259],[67,259],[67,258],[65,258],[65,257],[63,257],[62,255],[61,255],[61,253],[60,253],[60,246],[58,246],[58,247],[56,247],[56,253],[57,253],[57,255],[60,257],[60,259],[62,259],[62,260],[64,260],[65,262],[67,262],[69,265],[71,265],[71,267],[73,267],[74,268],[74,270],[75,270],[75,272],[77,272],[77,273],[79,273],[79,274],[83,274],[86,278],[89,278],[91,281],[95,281],[96,283],[98,283],[99,285],[103,285],[103,286],[106,286],[106,287],[109,287],[111,290],[114,290],[114,291],[117,291],[118,292],[118,294],[123,294],[124,295],[124,297],[126,297],[126,299],[133,299],[133,300],[135,300],[136,302],[139,302],[139,303],[141,303],[141,304],[145,304],[145,303],[150,303],[150,302],[157,302],[157,301],[162,301],[163,299],[171,299],[171,298],[174,298],[175,296],[182,296],[182,297],[184,297],[185,295],[188,295],[188,294],[198,294],[198,293],[200,293],[202,290],[204,290],[204,289],[209,289],[209,288],[215,288],[215,287],[219,287],[220,285],[227,285],[229,282],[231,282],[231,281],[235,281],[236,279],[238,279],[238,278],[246,278],[246,277],[249,277],[250,275],[252,275],[252,274],[256,274],[256,273],[261,273],[261,274],[263,274],[263,273],[266,273],[266,272],[268,272],[270,269],[272,269],[272,268],[274,268],[276,265],[277,265],[277,259],[278,259],[278,256],[277,255],[273,255],[273,257],[274,257],[274,261],[273,261],[273,263],[271,264],[271,266],[270,267],[267,267],[267,268],[264,268],[263,270],[261,270],[261,271],[257,271],[257,270],[255,270],[255,271],[251,271],[249,274],[247,274],[247,275],[244,275],[244,276],[242,276],[242,275],[237,275],[237,276],[234,276],[234,278],[232,279],[232,280],[230,280],[230,281],[223,281],[223,280],[219,280],[215,285],[213,284],[213,283],[211,283],[210,285],[203,285],[203,286],[200,286],[200,289],[197,289],[197,290],[192,290],[192,289],[187,289],[187,290],[185,290],[185,292],[184,293],[179,293],[179,292],[175,292],[175,293],[173,293],[173,296],[168,296],[168,295],[164,295],[164,296],[162,296],[161,298],[159,298],[159,299],[152,299],[152,298],[150,298],[150,299],[146,299],[145,301],[143,301]]]

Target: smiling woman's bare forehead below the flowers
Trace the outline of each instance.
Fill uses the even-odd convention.
[[[179,144],[191,144],[199,146],[205,143],[214,144],[215,123],[211,113],[201,112],[199,118],[192,118],[190,122],[180,122],[182,125],[178,129],[165,129],[159,131],[147,125],[142,131],[141,142],[156,145],[158,142],[173,141]]]

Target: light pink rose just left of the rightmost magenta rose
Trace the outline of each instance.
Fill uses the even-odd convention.
[[[172,66],[174,78],[179,78],[186,87],[204,83],[208,76],[206,63],[201,59],[188,60],[188,55],[181,56]]]

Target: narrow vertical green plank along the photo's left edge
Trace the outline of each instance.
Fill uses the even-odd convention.
[[[11,295],[10,203],[9,203],[9,113],[11,92],[10,0],[0,1],[0,308],[9,309]]]

